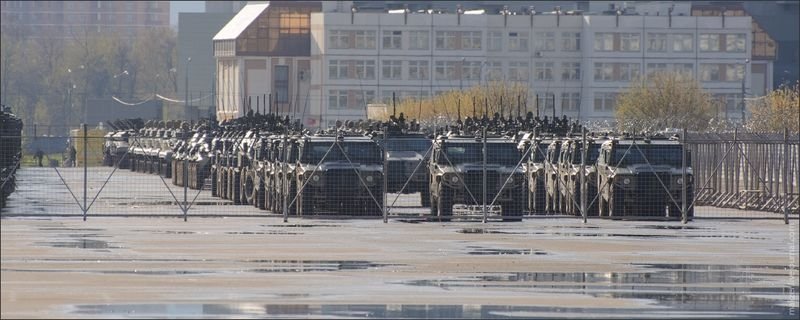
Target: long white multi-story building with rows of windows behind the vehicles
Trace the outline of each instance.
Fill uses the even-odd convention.
[[[264,16],[275,9],[261,6]],[[250,7],[256,6],[231,23],[247,21],[243,17],[256,11]],[[241,97],[277,92],[278,83],[287,82],[286,103],[294,107],[280,110],[307,126],[364,118],[367,104],[391,99],[392,92],[431,96],[498,80],[527,85],[531,111],[538,95],[543,115],[583,120],[613,118],[616,96],[657,70],[689,72],[719,98],[733,99],[731,117],[741,114],[734,97],[743,84],[750,87],[752,23],[746,16],[723,22],[663,15],[361,13],[345,1],[317,8],[309,14],[306,56],[248,56],[239,44],[216,51],[223,69],[217,73],[220,119],[246,112]],[[239,41],[236,32],[228,36],[236,40],[223,39],[226,29],[214,38],[215,48]],[[279,80],[283,72],[288,81]]]

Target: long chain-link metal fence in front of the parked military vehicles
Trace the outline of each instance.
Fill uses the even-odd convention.
[[[15,187],[4,216],[798,216],[797,134],[81,129],[63,137],[4,135],[3,146],[12,139],[26,147],[14,178],[3,177]]]

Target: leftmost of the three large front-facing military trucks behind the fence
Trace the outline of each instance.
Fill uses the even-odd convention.
[[[302,136],[297,147],[297,215],[382,215],[383,154],[372,138],[320,133]],[[279,190],[290,202],[295,197],[287,187]]]

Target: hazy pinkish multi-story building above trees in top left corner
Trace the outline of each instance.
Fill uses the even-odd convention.
[[[169,1],[2,1],[3,32],[20,37],[69,39],[92,32],[135,37],[169,27]]]

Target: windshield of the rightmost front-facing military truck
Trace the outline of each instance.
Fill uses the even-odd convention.
[[[639,147],[637,149],[636,147]],[[641,150],[641,152],[639,152]],[[623,157],[624,156],[624,157]],[[620,162],[620,160],[622,162]],[[681,146],[680,145],[652,145],[639,144],[636,146],[617,145],[614,151],[612,164],[620,162],[619,167],[626,167],[637,164],[668,165],[671,167],[681,167]],[[687,158],[688,163],[688,158]]]

